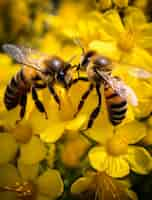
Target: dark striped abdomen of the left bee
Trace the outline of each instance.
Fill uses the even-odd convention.
[[[12,77],[6,87],[4,94],[4,104],[7,110],[15,108],[19,103],[21,96],[28,91],[27,83],[24,80],[22,69]]]

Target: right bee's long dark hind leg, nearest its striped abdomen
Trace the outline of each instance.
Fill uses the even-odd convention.
[[[90,114],[86,130],[92,127],[94,120],[96,119],[96,117],[98,116],[98,114],[100,112],[101,101],[102,101],[102,96],[101,96],[101,93],[100,93],[100,85],[96,85],[96,92],[97,92],[97,95],[98,95],[98,105],[92,111],[92,113]]]

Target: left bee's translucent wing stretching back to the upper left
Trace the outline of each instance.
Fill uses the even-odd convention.
[[[26,47],[20,47],[13,44],[4,44],[3,50],[13,57],[18,63],[30,66],[38,71],[40,69],[40,56],[35,50]],[[35,56],[35,57],[34,57]],[[36,57],[37,56],[37,57]]]

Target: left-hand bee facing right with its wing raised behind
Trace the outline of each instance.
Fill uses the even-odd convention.
[[[6,87],[4,94],[6,109],[11,110],[20,105],[20,120],[22,120],[26,111],[27,94],[31,92],[36,108],[48,119],[43,103],[39,100],[37,89],[47,87],[60,109],[60,98],[54,89],[54,84],[58,82],[65,88],[68,86],[71,79],[69,73],[71,65],[58,56],[44,55],[31,48],[13,44],[4,44],[2,48],[23,65]]]

